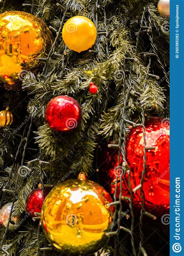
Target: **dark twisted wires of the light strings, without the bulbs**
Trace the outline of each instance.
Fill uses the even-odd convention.
[[[33,13],[33,3],[34,3],[34,0],[32,0],[32,6],[31,6],[31,13]],[[57,40],[61,34],[61,30],[62,30],[62,27],[63,27],[63,23],[64,23],[64,19],[66,17],[66,13],[68,12],[68,8],[69,8],[69,5],[70,5],[71,1],[66,4],[66,9],[65,11],[63,12],[63,16],[62,16],[62,20],[61,20],[61,25],[60,25],[60,28],[57,32],[57,35],[56,35],[56,38],[55,38],[55,41],[52,45],[52,48],[49,52],[49,55],[47,57],[47,60],[46,60],[46,63],[45,63],[45,66],[43,68],[43,72],[42,72],[42,75],[45,75],[47,73],[47,65],[49,63],[49,59],[52,57],[52,55],[54,54],[54,51],[55,51],[55,47],[56,47],[56,43],[57,43]],[[96,7],[98,6],[98,1],[96,1]],[[146,9],[144,9],[144,12],[142,14],[142,18],[141,18],[141,26],[143,24],[143,21],[145,20],[145,12],[146,12]],[[150,10],[148,8],[148,12],[149,12],[149,26],[151,27],[151,13],[150,13]],[[108,33],[108,27],[106,25],[106,12],[103,10],[103,13],[104,13],[104,26],[105,26],[105,29],[106,29],[106,32]],[[94,17],[94,23],[97,27],[97,20],[98,20],[98,15],[97,15],[97,12],[96,14],[94,13],[93,15]],[[136,44],[138,46],[139,44],[139,35],[140,35],[140,32],[141,32],[141,28],[139,29],[138,31],[138,34],[137,34],[137,41],[136,41]],[[163,67],[163,64],[161,63],[159,57],[158,57],[158,54],[156,52],[156,48],[155,48],[155,45],[153,43],[153,34],[150,34],[148,33],[148,36],[149,36],[149,39],[150,39],[150,43],[151,43],[151,46],[152,46],[152,49],[151,51],[156,55],[157,59],[158,59],[158,62],[160,64],[160,67],[161,69],[163,70],[163,73],[166,75],[165,73],[165,69]],[[97,46],[95,45],[95,49],[97,49]],[[108,43],[106,44],[106,52],[107,54],[109,53],[108,51]],[[96,57],[98,59],[98,57]],[[151,64],[151,58],[149,57],[149,64],[148,64],[148,67],[150,67],[150,64]],[[64,65],[63,65],[64,66]],[[63,69],[64,67],[62,67]],[[124,73],[124,76],[125,76],[125,73]],[[167,77],[167,76],[166,76]],[[129,75],[129,82],[131,82],[131,79],[130,79],[130,75]],[[167,80],[167,83],[169,83],[168,81],[168,78],[166,79]],[[127,105],[127,101],[128,101],[128,96],[129,96],[129,91],[130,91],[130,84],[128,84],[128,90],[127,92],[125,92],[125,87],[123,89],[123,96],[125,97],[125,100],[124,100],[124,105],[123,105],[123,109],[122,109],[122,123],[120,125],[120,133],[119,133],[119,146],[120,146],[120,150],[119,150],[119,153],[118,153],[118,162],[119,162],[119,165],[120,165],[120,162],[121,162],[121,155],[122,155],[122,162],[124,161],[125,164],[127,165],[127,162],[126,162],[126,151],[125,151],[125,144],[126,144],[126,123],[124,121],[124,117],[127,116],[127,111],[126,111],[126,105]],[[143,138],[144,138],[144,155],[143,155],[143,171],[142,171],[142,178],[141,178],[141,185],[143,185],[143,182],[144,182],[144,174],[145,174],[145,169],[146,169],[146,134],[145,134],[145,126],[144,126],[144,122],[145,122],[145,116],[144,116],[144,109],[142,108],[142,112],[141,112],[141,119],[142,119],[142,132],[143,132]],[[28,144],[28,137],[30,135],[30,131],[31,131],[31,125],[32,125],[32,121],[33,121],[33,117],[31,118],[31,122],[30,122],[30,126],[29,126],[29,131],[28,131],[28,134],[27,134],[27,137],[26,137],[26,143],[24,145],[24,150],[23,150],[23,157],[22,157],[22,161],[21,161],[21,166],[23,166],[24,164],[24,156],[25,156],[25,152],[26,152],[26,147],[27,147],[27,144]],[[26,128],[24,129],[24,133],[23,133],[23,136],[21,138],[21,142],[19,144],[19,147],[18,147],[18,150],[17,150],[17,153],[16,153],[16,157],[15,157],[15,161],[17,160],[17,156],[19,154],[19,151],[21,149],[21,145],[23,143],[23,138],[25,136],[25,130]],[[41,156],[41,151],[40,151],[40,157],[42,158]],[[41,183],[42,183],[42,188],[43,188],[43,172],[42,172],[42,164],[40,164],[40,180],[41,180]],[[13,171],[13,168],[14,168],[14,164],[12,166],[12,169],[10,171],[10,174],[9,174],[9,181],[7,183],[7,187],[10,183],[10,179],[12,177],[12,171]],[[123,174],[125,174],[126,170],[125,170],[125,167],[122,165],[122,169],[123,169],[123,172],[121,173],[120,175],[120,196],[119,196],[119,202],[120,202],[120,205],[119,207],[115,206],[115,213],[114,213],[114,219],[113,219],[113,223],[116,222],[117,220],[117,217],[120,218],[121,216],[121,212],[122,212],[122,204],[121,204],[121,199],[122,199],[122,194],[123,194],[123,191],[122,191],[122,181],[123,181]],[[1,248],[3,246],[3,242],[4,242],[4,239],[5,239],[5,236],[7,234],[7,231],[8,231],[8,227],[9,227],[9,223],[10,223],[10,219],[11,219],[11,215],[12,215],[12,210],[13,210],[13,206],[14,206],[14,203],[15,203],[15,199],[16,199],[16,191],[17,191],[17,186],[18,186],[18,181],[19,181],[19,176],[17,177],[17,180],[16,180],[16,188],[15,188],[15,191],[14,191],[14,198],[13,198],[13,203],[12,203],[12,207],[11,207],[11,211],[10,211],[10,217],[9,217],[9,221],[7,223],[7,228],[5,229],[5,232],[4,232],[4,235],[3,235],[3,239],[1,241]],[[132,209],[132,188],[131,188],[131,181],[130,181],[130,172],[128,174],[128,188],[130,190],[130,203],[129,203],[129,206],[130,206],[130,213],[131,213],[131,217],[132,217],[132,220],[131,220],[131,228],[130,228],[130,235],[131,235],[131,244],[132,244],[132,250],[133,250],[133,254],[134,256],[136,256],[136,250],[135,250],[135,245],[134,245],[134,236],[133,236],[133,229],[134,229],[134,212],[133,212],[133,209]],[[116,177],[116,188],[115,188],[115,194],[114,194],[114,201],[116,202],[117,201],[117,190],[118,190],[118,175]],[[141,247],[142,247],[142,244],[143,244],[143,233],[142,233],[142,218],[143,218],[143,213],[145,212],[144,210],[144,193],[142,191],[142,187],[140,189],[140,192],[141,192],[141,215],[140,215],[140,224],[139,224],[139,231],[140,231],[140,244],[139,244],[139,254],[141,254]],[[43,192],[44,194],[44,192]],[[4,195],[2,196],[2,199],[0,201],[0,206],[2,205],[2,201],[3,201],[3,197]],[[119,208],[119,209],[118,209]],[[39,232],[40,232],[40,226],[38,227],[38,251],[37,251],[37,255],[39,254],[39,250],[40,250],[40,245],[39,245]],[[120,233],[120,222],[118,222],[118,227],[117,227],[117,235],[118,235],[118,240],[119,240],[119,233]],[[108,239],[108,242],[109,242],[109,239]],[[108,243],[107,243],[108,244]],[[117,247],[117,241],[115,239],[115,250],[114,250],[114,255],[117,255],[117,251],[116,251],[116,247]],[[101,254],[101,252],[100,252]],[[98,255],[100,255],[99,252],[98,252]]]

